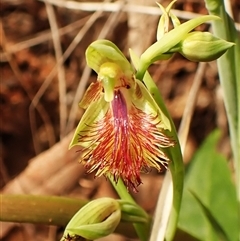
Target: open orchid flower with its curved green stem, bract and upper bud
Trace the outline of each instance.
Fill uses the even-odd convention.
[[[209,33],[190,33],[206,21],[219,20],[218,17],[202,16],[180,24],[170,11],[173,3],[166,9],[159,5],[163,15],[158,25],[157,42],[140,58],[130,50],[136,71],[117,46],[108,40],[97,40],[87,48],[87,64],[98,78],[80,102],[80,107],[86,111],[70,143],[70,148],[81,148],[80,161],[87,172],[95,171],[95,176],[109,177],[119,196],[135,205],[139,214],[144,211],[136,206],[127,190],[137,192],[142,183],[140,172],[169,167],[173,206],[165,234],[167,241],[173,239],[177,226],[184,168],[176,129],[147,69],[155,61],[168,59],[175,52],[190,60],[209,61],[232,46]],[[169,31],[170,19],[174,29]],[[203,51],[192,55],[199,43]],[[131,209],[133,213],[134,210]],[[147,216],[145,218],[147,220]],[[149,236],[146,223],[134,223],[144,241]]]

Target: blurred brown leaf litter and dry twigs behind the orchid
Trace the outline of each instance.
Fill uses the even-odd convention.
[[[160,1],[167,6],[170,1]],[[240,22],[240,2],[227,2]],[[203,0],[178,0],[175,14],[184,22],[207,14]],[[51,1],[2,0],[0,17],[0,188],[2,193],[48,194],[95,199],[117,197],[105,178],[86,175],[76,149],[68,151],[83,110],[78,107],[96,74],[86,67],[85,50],[98,38],[113,41],[128,57],[156,41],[160,10],[152,0]],[[208,24],[199,27],[209,31]],[[199,70],[199,68],[201,69]],[[187,164],[205,137],[222,130],[220,149],[231,156],[228,126],[216,62],[193,63],[175,54],[150,67],[178,129],[196,78],[201,85],[188,133]],[[143,174],[133,194],[150,214],[164,173]],[[3,241],[55,241],[62,228],[1,223]],[[104,240],[130,240],[113,235]]]

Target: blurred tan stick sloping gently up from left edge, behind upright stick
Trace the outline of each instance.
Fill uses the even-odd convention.
[[[71,33],[77,29],[79,29],[80,27],[82,27],[86,21],[89,19],[89,16],[84,17],[80,20],[77,20],[73,23],[70,23],[68,25],[66,25],[65,27],[62,27],[59,29],[59,34],[60,36]],[[39,32],[36,35],[30,36],[29,39],[12,44],[10,46],[8,46],[8,53],[15,53],[15,52],[19,52],[20,50],[26,49],[26,48],[30,48],[32,46],[38,45],[40,43],[43,43],[45,41],[48,41],[52,38],[51,35],[51,31],[47,30],[47,31],[42,31]],[[1,62],[5,62],[6,61],[6,57],[5,57],[5,53],[4,52],[0,52],[0,61]]]

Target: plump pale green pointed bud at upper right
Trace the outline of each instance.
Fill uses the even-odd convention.
[[[234,44],[219,39],[209,32],[191,32],[177,48],[185,58],[196,62],[213,61],[223,55]]]

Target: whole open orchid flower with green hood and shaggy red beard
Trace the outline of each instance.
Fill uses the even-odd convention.
[[[70,148],[81,147],[89,173],[113,176],[116,183],[121,177],[128,189],[137,191],[141,171],[167,168],[170,160],[163,149],[175,144],[165,134],[170,122],[112,42],[93,42],[86,58],[98,78],[79,104],[86,111]]]

